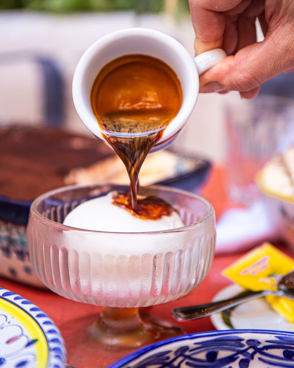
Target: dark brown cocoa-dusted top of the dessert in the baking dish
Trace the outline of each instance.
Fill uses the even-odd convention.
[[[114,152],[97,138],[62,130],[0,128],[0,196],[32,201],[65,185],[73,169],[90,166]]]

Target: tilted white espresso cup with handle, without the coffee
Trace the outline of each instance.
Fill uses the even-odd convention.
[[[156,57],[178,75],[183,102],[152,151],[164,148],[178,135],[191,115],[199,93],[199,75],[226,57],[222,49],[204,52],[194,59],[174,38],[149,28],[127,28],[101,37],[82,55],[72,81],[73,103],[80,119],[96,137],[103,139],[94,116],[90,93],[100,70],[110,61],[130,54]]]

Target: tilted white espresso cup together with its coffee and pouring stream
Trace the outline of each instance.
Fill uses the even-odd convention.
[[[86,127],[126,166],[130,191],[114,204],[134,215],[158,207],[157,199],[137,201],[140,167],[148,152],[179,134],[196,104],[198,75],[225,56],[214,49],[193,59],[175,39],[146,28],[112,32],[86,50],[73,76],[73,102]]]

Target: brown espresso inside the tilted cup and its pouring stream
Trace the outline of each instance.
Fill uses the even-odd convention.
[[[98,74],[91,105],[103,137],[126,166],[130,178],[127,199],[133,212],[141,215],[137,204],[139,171],[180,110],[180,81],[161,60],[146,55],[123,56]]]

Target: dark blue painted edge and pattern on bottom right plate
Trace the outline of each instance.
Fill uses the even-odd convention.
[[[264,334],[264,335],[277,335],[275,338],[277,340],[269,340],[267,341],[268,345],[260,346],[260,342],[256,339],[249,339],[244,340],[241,336],[244,333],[252,333],[252,334]],[[229,341],[226,340],[226,344],[224,346],[224,340],[221,340],[221,336],[227,335],[236,335],[236,339],[233,339],[233,336],[230,336]],[[293,368],[294,367],[294,333],[293,332],[283,332],[283,331],[271,331],[271,330],[225,330],[225,331],[209,331],[209,332],[200,332],[200,333],[193,333],[190,335],[184,336],[177,336],[173,337],[168,340],[164,340],[155,344],[151,344],[147,347],[143,347],[140,350],[137,350],[126,357],[116,361],[114,364],[111,364],[108,368],[121,368],[126,364],[132,363],[133,360],[143,357],[144,354],[155,350],[162,346],[167,346],[171,343],[178,342],[178,341],[186,341],[186,340],[197,340],[199,338],[205,337],[216,337],[216,339],[212,340],[205,340],[203,345],[199,348],[199,352],[206,352],[206,361],[204,359],[198,359],[193,357],[192,361],[189,361],[188,364],[184,360],[186,357],[189,359],[188,350],[190,347],[182,346],[177,347],[175,351],[166,350],[158,352],[157,354],[151,355],[148,358],[144,359],[144,361],[139,362],[138,367],[151,367],[156,365],[157,368],[165,367],[165,368],[175,368],[180,367],[180,365],[174,365],[173,362],[175,359],[179,357],[183,357],[184,363],[183,366],[185,367],[205,367],[205,368],[221,368],[221,367],[231,367],[230,363],[233,363],[239,359],[239,355],[242,355],[242,358],[239,360],[239,367],[240,368],[248,368],[250,367],[250,361],[253,360],[255,354],[260,354],[259,361],[265,363],[265,367],[287,367]],[[279,340],[279,337],[280,340]],[[282,337],[285,337],[284,339]],[[287,339],[290,337],[290,339]],[[244,343],[243,343],[244,341]],[[205,346],[205,342],[208,342]],[[247,346],[247,348],[245,348]],[[167,348],[168,349],[168,348]],[[193,348],[193,355],[195,354],[197,347]],[[239,350],[238,350],[239,349]],[[269,350],[277,350],[283,349],[283,356],[270,354],[268,353]],[[209,351],[208,351],[209,350]],[[222,358],[217,358],[217,354],[219,350],[223,351],[230,351],[232,354],[226,355]],[[252,352],[249,350],[252,350]],[[173,357],[168,362],[170,358],[168,354],[172,353]],[[162,363],[162,364],[161,364]],[[180,363],[180,364],[181,364]],[[132,367],[128,365],[127,367]],[[135,366],[137,367],[137,365]]]

